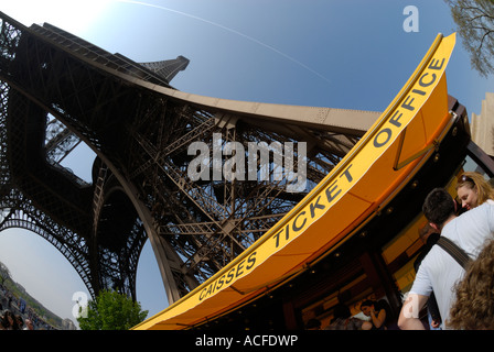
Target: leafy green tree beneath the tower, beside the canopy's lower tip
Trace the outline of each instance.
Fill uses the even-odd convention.
[[[89,300],[77,321],[82,330],[128,330],[148,316],[141,305],[124,294],[101,290]]]

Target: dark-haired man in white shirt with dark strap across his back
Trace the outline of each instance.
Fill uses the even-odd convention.
[[[484,202],[457,217],[457,202],[442,188],[433,189],[426,198],[422,212],[431,227],[475,258],[485,241],[494,234],[494,205]],[[434,245],[420,264],[414,285],[401,308],[398,327],[402,330],[425,329],[419,311],[433,292],[443,329],[454,299],[454,285],[464,275],[463,267],[443,249]]]

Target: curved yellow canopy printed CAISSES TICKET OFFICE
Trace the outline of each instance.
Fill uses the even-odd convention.
[[[336,167],[226,267],[135,330],[186,329],[238,307],[304,270],[400,190],[453,119],[444,70],[455,34],[439,34],[405,87]]]

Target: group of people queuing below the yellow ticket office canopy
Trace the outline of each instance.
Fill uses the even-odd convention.
[[[465,172],[458,178],[455,190],[457,199],[445,189],[436,188],[423,201],[428,223],[419,234],[425,245],[414,265],[417,275],[412,287],[393,329],[494,329],[494,188],[482,174]],[[443,249],[444,238],[457,245],[455,251],[464,252],[465,264]],[[361,304],[366,320],[352,317],[348,307],[340,302],[327,327],[311,319],[305,328],[389,329],[389,310],[382,301]],[[423,309],[428,321],[420,316]]]

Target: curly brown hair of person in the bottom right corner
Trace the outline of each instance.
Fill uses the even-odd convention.
[[[494,329],[494,240],[488,240],[455,286],[448,324],[461,330]]]

